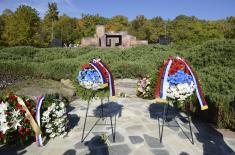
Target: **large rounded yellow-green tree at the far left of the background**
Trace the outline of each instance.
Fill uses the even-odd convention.
[[[3,38],[9,45],[37,46],[36,36],[40,24],[37,10],[20,5],[5,21]]]

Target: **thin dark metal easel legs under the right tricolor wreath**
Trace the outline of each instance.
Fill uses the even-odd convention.
[[[162,125],[160,124],[160,118],[158,117],[158,127],[159,127],[159,137],[160,137],[160,142],[162,143],[162,138],[163,138],[163,129],[164,126],[166,125],[167,122],[167,118],[169,116],[169,102],[164,104],[164,111],[163,111],[163,117],[162,117]],[[180,127],[180,129],[182,130],[182,132],[184,133],[184,135],[189,139],[189,141],[194,144],[194,140],[193,140],[193,133],[192,133],[192,126],[191,126],[191,117],[189,114],[189,108],[187,107],[187,112],[186,112],[187,116],[171,116],[172,118],[174,118],[175,122],[178,124],[178,126],[174,126],[174,127]],[[188,121],[189,124],[189,129],[190,129],[190,134],[191,134],[191,138],[188,137],[188,135],[184,132],[184,130],[181,128],[180,124],[177,122],[176,118],[185,118]]]

